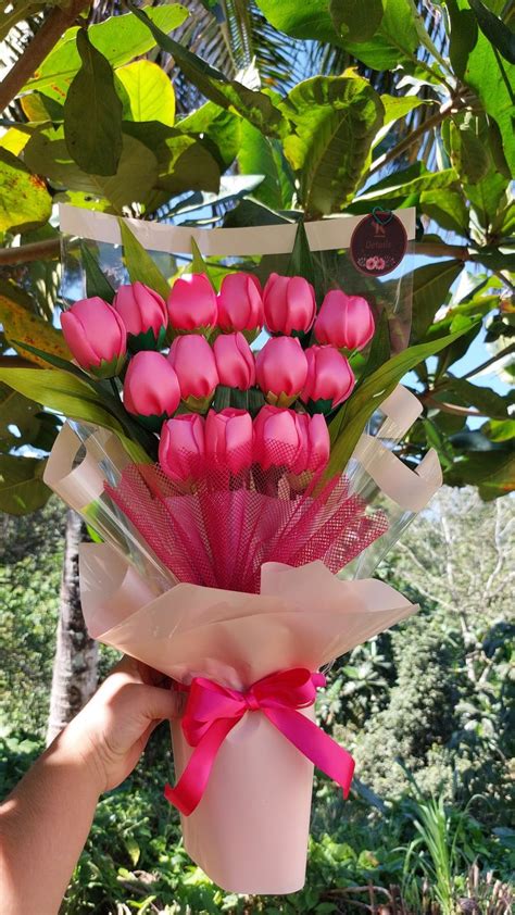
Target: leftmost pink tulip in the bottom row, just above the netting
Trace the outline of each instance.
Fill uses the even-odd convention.
[[[183,413],[168,419],[161,429],[159,462],[174,482],[194,479],[202,471],[205,452],[205,419],[196,413]]]

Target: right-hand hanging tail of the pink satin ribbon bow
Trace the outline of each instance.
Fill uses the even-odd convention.
[[[293,709],[262,709],[269,722],[307,756],[317,768],[337,781],[347,798],[354,774],[351,754],[314,722]]]

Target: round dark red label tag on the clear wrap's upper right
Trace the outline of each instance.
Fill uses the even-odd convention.
[[[352,233],[350,254],[361,273],[385,276],[399,266],[406,247],[406,230],[401,221],[390,210],[375,206]]]

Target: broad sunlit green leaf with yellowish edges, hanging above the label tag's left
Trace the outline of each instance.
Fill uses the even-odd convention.
[[[382,122],[379,96],[359,76],[315,76],[296,86],[281,109],[296,128],[284,148],[299,172],[306,213],[340,210],[352,199]]]

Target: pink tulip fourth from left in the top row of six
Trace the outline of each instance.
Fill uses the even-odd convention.
[[[261,284],[252,273],[224,276],[218,293],[218,326],[225,334],[263,327]]]

